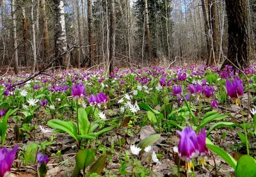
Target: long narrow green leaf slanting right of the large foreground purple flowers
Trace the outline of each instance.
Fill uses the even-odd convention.
[[[216,153],[223,160],[225,160],[225,162],[227,162],[228,165],[230,165],[232,168],[236,169],[236,160],[232,156],[230,156],[226,151],[224,151],[222,148],[220,148],[219,146],[216,146],[214,144],[209,144],[206,142],[206,145],[210,150],[214,151],[214,153]]]

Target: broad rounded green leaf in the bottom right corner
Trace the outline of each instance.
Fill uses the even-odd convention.
[[[256,176],[256,162],[250,155],[243,155],[239,158],[236,170],[236,177],[255,177]]]

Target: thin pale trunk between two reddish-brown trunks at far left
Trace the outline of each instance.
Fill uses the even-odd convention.
[[[34,0],[31,0],[31,26],[32,26],[32,50],[33,50],[33,65],[32,72],[36,69],[36,32],[35,32],[35,21],[34,21]]]

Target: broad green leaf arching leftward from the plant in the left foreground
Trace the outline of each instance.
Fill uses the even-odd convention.
[[[77,137],[77,127],[72,121],[61,121],[59,119],[51,119],[47,122],[47,125],[51,128],[60,129],[64,132],[67,132],[71,137],[76,139],[78,142]]]

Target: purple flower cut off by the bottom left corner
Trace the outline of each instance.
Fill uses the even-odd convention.
[[[0,150],[0,177],[7,176],[15,158],[16,151],[19,146],[15,146],[12,150],[8,151],[6,148]]]

